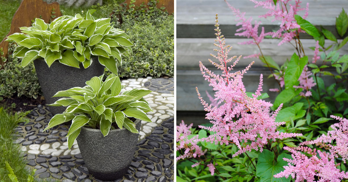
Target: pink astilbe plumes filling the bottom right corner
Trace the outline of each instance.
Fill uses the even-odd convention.
[[[330,117],[340,122],[331,125],[332,130],[328,131],[326,135],[323,134],[313,141],[300,143],[300,145],[315,144],[329,152],[312,150],[304,146],[284,147],[285,150],[292,153],[292,159],[284,158],[288,162],[288,166],[284,166],[285,170],[274,175],[275,177],[286,177],[291,174],[292,178],[296,177],[296,182],[314,181],[316,176],[319,181],[323,182],[340,182],[348,179],[348,172],[340,171],[335,164],[335,158],[342,157],[343,163],[348,160],[348,120],[333,115]]]

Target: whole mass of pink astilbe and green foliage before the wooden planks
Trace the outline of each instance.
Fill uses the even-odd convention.
[[[279,39],[278,46],[294,45],[294,54],[283,65],[264,56],[260,47],[260,53],[248,56],[269,68],[269,79],[279,87],[267,91],[278,95],[274,103],[263,101],[268,94],[262,93],[262,74],[256,92],[246,92],[243,74],[254,62],[231,71],[242,56],[228,57],[231,46],[225,43],[216,15],[217,55],[212,56],[217,62],[209,61],[221,74],[200,62],[203,77],[215,90],[214,96],[208,96],[211,104],[196,88],[210,123],[198,128],[184,122],[177,126],[177,181],[348,181],[348,56],[339,52],[348,41],[347,13],[342,9],[336,18],[336,38],[306,20],[308,3],[301,7],[301,1],[253,2],[268,10],[260,17],[282,23],[278,30],[264,32],[261,27],[259,32],[261,22],[252,25],[252,19],[227,3],[242,25],[236,35],[250,38],[242,44],[259,47],[268,37]],[[300,33],[314,38],[311,60]]]

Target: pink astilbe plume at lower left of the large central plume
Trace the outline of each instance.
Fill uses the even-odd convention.
[[[184,158],[196,158],[203,156],[207,150],[202,150],[201,147],[195,142],[198,139],[198,135],[188,139],[188,135],[191,134],[191,127],[193,124],[187,126],[184,121],[181,121],[179,126],[176,126],[176,150],[185,149],[184,154],[176,157],[176,161]],[[199,165],[199,163],[193,164],[192,167]]]

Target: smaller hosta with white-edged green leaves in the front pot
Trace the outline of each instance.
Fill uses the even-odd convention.
[[[86,81],[85,87],[73,87],[57,92],[54,97],[63,97],[49,106],[68,106],[62,114],[56,114],[45,130],[72,120],[66,135],[68,146],[80,134],[81,127],[100,129],[104,136],[110,129],[125,127],[132,133],[139,133],[130,118],[151,122],[146,112],[152,111],[143,96],[151,90],[136,88],[120,94],[120,78],[110,74],[105,81],[104,75]],[[116,123],[116,124],[114,124]]]

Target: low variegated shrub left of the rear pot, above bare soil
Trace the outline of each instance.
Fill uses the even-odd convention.
[[[15,46],[10,44],[9,53],[14,48]],[[23,68],[20,62],[21,60],[13,54],[9,54],[8,59],[3,59],[4,66],[0,70],[0,96],[11,97],[17,93],[18,97],[25,95],[37,98],[42,93],[34,65],[30,64]]]

